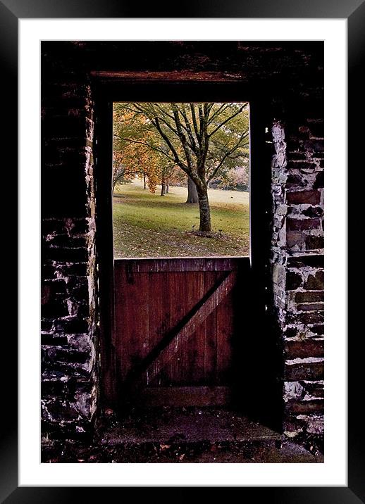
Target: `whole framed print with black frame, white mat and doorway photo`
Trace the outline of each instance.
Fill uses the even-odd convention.
[[[0,7],[6,145],[17,151],[18,126],[20,164],[19,431],[10,384],[4,500],[240,486],[280,503],[361,502],[345,166],[361,145],[352,127],[347,140],[346,72],[351,113],[364,5],[148,18],[113,2]],[[197,201],[182,207],[191,183]],[[247,244],[230,241],[217,198],[225,212],[247,201]]]

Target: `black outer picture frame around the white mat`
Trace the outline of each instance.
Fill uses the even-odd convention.
[[[3,118],[6,118],[4,128],[4,145],[12,153],[8,174],[13,176],[16,184],[16,153],[18,151],[17,124],[17,84],[18,84],[18,19],[19,18],[346,18],[348,23],[348,90],[349,90],[349,123],[348,123],[348,161],[354,165],[363,158],[360,154],[362,144],[361,128],[355,127],[355,114],[361,113],[361,99],[364,94],[364,51],[365,51],[365,1],[364,0],[200,0],[189,5],[171,2],[150,3],[143,7],[136,2],[119,0],[0,0],[0,52],[1,75],[4,86],[2,101]],[[362,73],[361,73],[362,70]],[[364,109],[364,106],[362,105]],[[363,161],[362,161],[363,162]],[[14,180],[15,179],[15,180]],[[349,202],[349,214],[356,210],[357,199]],[[16,213],[16,210],[13,209]],[[3,234],[9,237],[9,244],[16,243],[16,234],[10,222],[3,220]],[[351,225],[349,220],[349,232]],[[13,238],[13,239],[12,239]],[[349,265],[356,263],[353,247],[349,247]],[[8,248],[8,263],[13,256]],[[13,279],[14,282],[14,279]],[[361,296],[354,296],[349,305],[348,320],[360,313]],[[351,314],[354,315],[351,317]],[[347,487],[242,487],[241,496],[250,499],[267,499],[269,503],[330,503],[358,504],[365,502],[365,455],[361,446],[363,417],[359,403],[364,393],[364,377],[362,370],[362,354],[357,350],[355,339],[361,330],[354,332],[348,344],[348,475]],[[4,334],[5,336],[5,334]],[[1,502],[12,503],[63,503],[73,500],[86,501],[87,493],[92,491],[92,497],[98,495],[104,499],[105,492],[110,490],[80,489],[69,487],[18,487],[18,433],[17,433],[17,341],[14,330],[7,332],[3,338],[4,355],[8,362],[9,374],[6,386],[3,387],[2,402],[4,427],[1,429]],[[361,360],[360,360],[361,359]],[[10,379],[9,379],[10,378]],[[123,489],[122,489],[123,490]],[[101,496],[101,491],[103,492]]]

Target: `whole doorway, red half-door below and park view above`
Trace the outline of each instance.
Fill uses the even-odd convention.
[[[97,162],[102,170],[113,167],[109,179],[99,175],[99,195],[111,196],[99,220],[104,229],[106,221],[113,224],[104,234],[103,247],[111,247],[100,270],[110,292],[101,323],[104,403],[122,417],[132,411],[132,429],[136,408],[159,412],[148,413],[147,423],[164,419],[178,430],[187,408],[193,423],[206,412],[216,431],[230,412],[249,409],[252,393],[250,334],[264,310],[267,194],[264,172],[252,175],[251,156],[256,168],[264,165],[264,123],[251,100],[237,100],[237,83],[147,84],[115,84],[97,109]],[[213,117],[205,134],[219,133],[205,153],[204,113],[206,122]],[[189,168],[199,149],[206,165],[197,177]],[[266,178],[268,187],[269,171]],[[190,179],[196,203],[187,202]],[[252,192],[258,179],[260,190]],[[193,251],[191,240],[200,241]],[[166,417],[166,408],[178,408],[180,416]]]

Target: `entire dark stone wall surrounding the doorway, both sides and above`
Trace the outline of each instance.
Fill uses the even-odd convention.
[[[264,89],[273,146],[273,305],[287,361],[279,377],[284,429],[290,437],[323,434],[323,44],[79,41],[42,43],[44,436],[80,436],[98,407],[90,82],[100,71],[132,72],[136,80],[172,71]]]

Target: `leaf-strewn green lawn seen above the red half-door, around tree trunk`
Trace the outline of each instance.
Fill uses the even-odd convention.
[[[151,194],[142,183],[118,187],[113,196],[114,256],[247,256],[249,194],[209,190],[214,237],[201,237],[199,208],[186,204],[186,187],[171,187],[166,196]],[[193,227],[194,226],[194,227]]]

